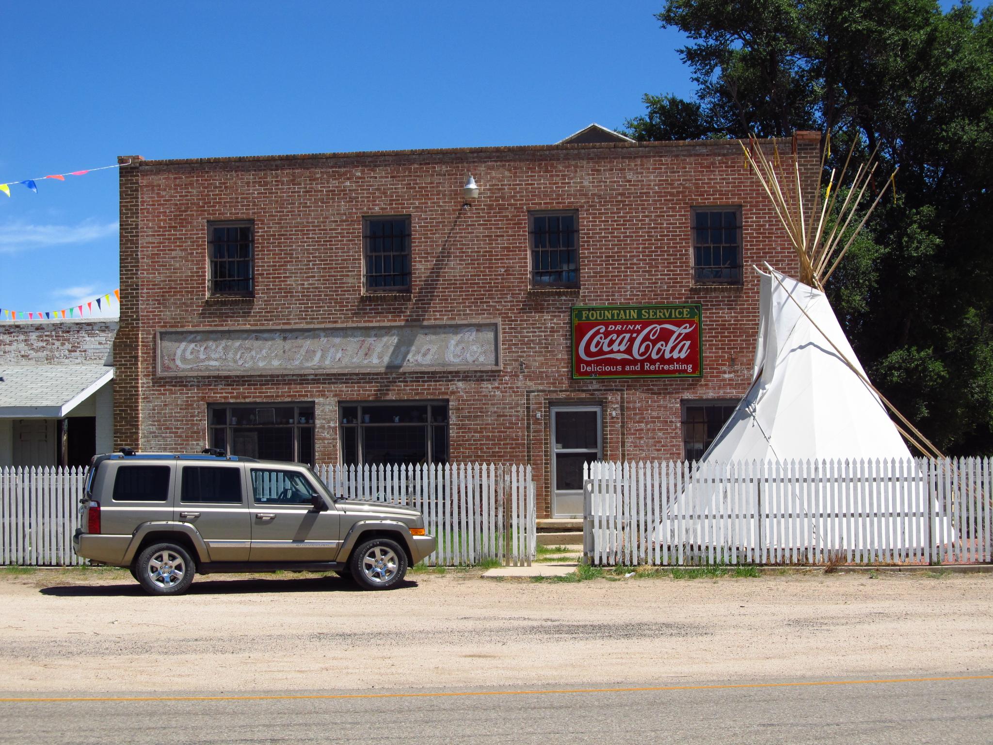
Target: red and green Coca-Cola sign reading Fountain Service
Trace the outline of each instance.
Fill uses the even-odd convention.
[[[699,305],[599,305],[572,309],[572,376],[699,377]]]

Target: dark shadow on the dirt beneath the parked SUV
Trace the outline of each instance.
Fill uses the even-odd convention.
[[[394,590],[417,587],[417,582],[404,580]],[[128,597],[146,595],[137,582],[121,582],[112,585],[53,585],[39,590],[42,595],[63,598]],[[239,595],[248,593],[284,592],[365,592],[355,582],[341,577],[307,577],[286,579],[282,577],[247,579],[197,579],[187,591],[187,595]]]

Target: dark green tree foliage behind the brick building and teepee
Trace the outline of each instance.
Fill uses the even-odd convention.
[[[832,133],[900,166],[827,291],[863,365],[946,452],[993,452],[993,6],[667,0],[693,100],[645,95],[638,140]],[[839,169],[840,170],[840,169]],[[880,178],[886,178],[881,176]],[[875,188],[882,184],[874,185]]]

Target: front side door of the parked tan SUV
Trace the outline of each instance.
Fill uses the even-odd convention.
[[[251,561],[334,561],[341,547],[339,515],[326,504],[305,471],[278,466],[246,466],[251,484]],[[325,500],[327,503],[327,500]]]

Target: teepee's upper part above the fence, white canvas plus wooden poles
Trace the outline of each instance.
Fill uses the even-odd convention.
[[[837,211],[838,191],[832,195],[835,174],[831,172],[814,224],[817,211],[804,213],[796,159],[787,180],[779,153],[770,159],[754,138],[749,147],[744,143],[742,147],[789,236],[800,277],[787,277],[769,264],[765,272],[759,270],[760,327],[752,385],[701,463],[905,460],[911,452],[904,438],[924,455],[942,457],[869,380],[823,291],[893,177],[849,234],[849,224],[876,170],[875,153],[868,165],[859,166]],[[825,155],[829,147],[828,139]],[[851,155],[850,150],[839,180],[844,179]],[[827,230],[829,224],[833,227]]]

